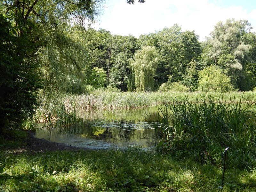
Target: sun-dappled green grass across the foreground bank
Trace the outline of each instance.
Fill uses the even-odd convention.
[[[255,191],[256,171],[174,160],[139,148],[1,152],[1,191]]]

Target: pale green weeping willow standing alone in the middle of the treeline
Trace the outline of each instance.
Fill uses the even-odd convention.
[[[154,75],[158,63],[157,52],[155,47],[143,46],[140,51],[135,53],[134,60],[130,60],[130,80],[128,90],[143,92],[154,90]],[[149,89],[150,88],[150,89]]]

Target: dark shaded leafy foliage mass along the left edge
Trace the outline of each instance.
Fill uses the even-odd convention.
[[[28,36],[15,36],[11,23],[0,14],[0,132],[9,123],[21,123],[34,113],[41,88],[38,63],[30,56],[34,45]]]

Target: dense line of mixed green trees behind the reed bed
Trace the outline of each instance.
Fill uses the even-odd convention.
[[[86,32],[77,26],[66,31],[76,50],[66,50],[77,60],[78,68],[67,72],[59,58],[59,70],[50,76],[45,89],[58,84],[58,91],[83,93],[86,89],[116,87],[121,91],[249,91],[256,86],[256,34],[248,21],[233,19],[215,25],[210,37],[198,41],[194,31],[181,30],[179,25],[155,33],[141,35],[112,35],[104,29]],[[52,54],[52,52],[48,52]],[[46,52],[42,57],[56,63]],[[50,58],[49,58],[50,57]],[[52,59],[52,61],[50,61]],[[64,60],[64,62],[70,62]],[[52,70],[52,68],[50,68]],[[88,86],[89,85],[89,86]]]

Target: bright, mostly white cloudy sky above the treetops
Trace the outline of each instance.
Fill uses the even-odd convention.
[[[146,0],[127,4],[126,0],[106,0],[102,15],[92,26],[113,35],[140,37],[174,24],[182,31],[195,30],[199,41],[209,36],[213,26],[227,19],[248,20],[256,31],[255,0]]]

